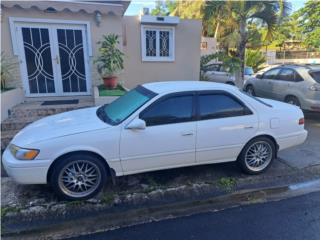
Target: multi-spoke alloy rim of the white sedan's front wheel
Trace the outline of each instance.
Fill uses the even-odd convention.
[[[61,191],[74,198],[85,197],[95,191],[101,181],[99,167],[88,160],[67,164],[60,172],[58,183]]]

